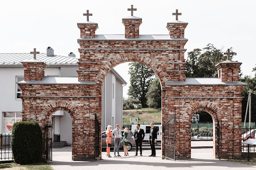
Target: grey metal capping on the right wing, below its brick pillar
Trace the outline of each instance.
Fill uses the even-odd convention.
[[[185,82],[166,81],[165,85],[247,85],[243,82],[222,82],[220,78],[185,78]]]

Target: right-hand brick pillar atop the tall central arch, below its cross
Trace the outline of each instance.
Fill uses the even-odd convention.
[[[187,22],[182,21],[168,22],[166,28],[169,31],[170,38],[184,38],[184,30],[187,25]]]

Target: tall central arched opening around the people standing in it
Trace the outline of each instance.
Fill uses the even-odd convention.
[[[148,138],[150,123],[153,122],[155,127],[159,129],[156,150],[158,156],[161,156],[161,83],[159,82],[159,77],[148,66],[149,65],[144,65],[144,63],[124,61],[113,65],[111,67],[113,69],[106,73],[102,81],[101,91],[101,144],[103,152],[105,152],[107,148],[107,136],[105,134],[107,125],[111,125],[112,130],[114,130],[116,124],[120,125],[121,130],[122,127],[129,128],[130,134],[128,136],[129,142],[127,148],[135,152],[136,142],[134,140],[134,131],[136,125],[140,124],[141,129],[143,129],[145,133],[142,149],[145,155],[150,155],[151,150],[146,151],[144,149],[150,149]],[[140,78],[142,83],[138,83],[139,80],[137,79]],[[144,86],[142,87],[141,84]],[[136,89],[138,86],[141,87]],[[151,95],[153,91],[151,93],[149,92],[151,88],[157,90],[157,92],[153,90],[155,95]],[[158,99],[152,99],[152,97],[156,96]],[[123,132],[124,130],[122,130],[122,133]],[[122,145],[122,143],[119,145],[119,149],[121,149],[119,154],[123,155]],[[114,146],[115,141],[112,137],[112,155],[114,155],[112,151]],[[106,153],[102,153],[102,155],[104,154],[106,155]],[[134,155],[134,153],[132,153],[132,155]]]

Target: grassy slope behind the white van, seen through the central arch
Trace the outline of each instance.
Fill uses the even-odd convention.
[[[138,118],[138,123],[140,124],[161,123],[161,109],[141,108],[123,110],[123,125],[127,125],[127,122],[130,123],[131,117]]]

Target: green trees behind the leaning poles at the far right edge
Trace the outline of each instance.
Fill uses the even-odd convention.
[[[253,71],[256,71],[256,67],[253,68]],[[240,79],[242,82],[247,83],[246,87],[244,87],[242,91],[242,96],[244,97],[242,101],[242,121],[244,121],[245,113],[246,113],[246,106],[249,96],[249,89],[251,92],[256,93],[256,73],[254,77],[251,76],[244,76],[244,78]],[[256,94],[251,94],[251,121],[256,122]],[[249,122],[249,116],[247,114],[247,122]]]

